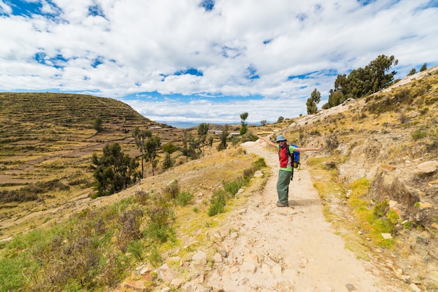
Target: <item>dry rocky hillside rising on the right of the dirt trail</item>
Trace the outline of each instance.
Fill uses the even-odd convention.
[[[438,291],[437,129],[438,67],[283,129],[298,145],[325,145],[313,182],[327,219],[388,275],[421,287],[407,291]]]

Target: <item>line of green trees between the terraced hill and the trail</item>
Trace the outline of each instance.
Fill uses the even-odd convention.
[[[248,132],[248,112],[243,112],[241,115],[241,136]],[[101,131],[101,118],[96,119],[94,128]],[[198,159],[204,154],[206,146],[213,147],[213,136],[207,140],[210,124],[199,124],[197,129],[197,137],[193,136],[188,130],[183,131],[181,137],[182,146],[176,147],[172,143],[163,145],[158,136],[153,136],[152,131],[145,129],[141,130],[137,126],[132,136],[134,143],[140,150],[140,163],[136,158],[131,158],[129,155],[122,152],[122,148],[118,143],[106,145],[102,149],[102,155],[92,155],[92,170],[94,178],[97,181],[96,196],[108,196],[114,194],[122,189],[134,184],[136,180],[143,178],[144,163],[147,161],[152,166],[152,175],[155,175],[155,169],[158,163],[158,152],[164,152],[164,159],[162,161],[163,169],[166,170],[174,166],[174,161],[171,159],[171,154],[176,150],[180,150],[187,159]],[[228,125],[225,124],[222,133],[220,134],[218,151],[227,148],[227,141],[229,140]]]

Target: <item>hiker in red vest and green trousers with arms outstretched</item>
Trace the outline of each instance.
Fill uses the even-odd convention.
[[[264,142],[268,143],[271,146],[274,146],[278,149],[278,159],[280,160],[280,170],[278,170],[278,181],[277,181],[277,194],[278,194],[278,207],[289,207],[289,182],[290,177],[292,175],[292,157],[288,155],[286,147],[289,147],[289,153],[294,151],[305,152],[305,151],[318,151],[323,149],[323,147],[319,148],[302,148],[302,147],[294,147],[292,145],[288,145],[286,143],[286,138],[283,135],[277,136],[275,142],[267,138],[263,138],[262,136],[257,135],[259,139],[264,140]]]

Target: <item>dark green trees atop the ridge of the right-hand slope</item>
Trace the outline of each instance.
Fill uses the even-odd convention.
[[[337,75],[334,89],[330,89],[328,102],[323,109],[332,108],[346,101],[348,98],[360,98],[384,89],[394,82],[396,71],[390,68],[396,66],[398,60],[394,56],[381,54],[369,62],[365,68],[357,68],[348,75]],[[320,93],[315,89],[307,100],[307,113],[316,113],[316,104],[320,101]]]

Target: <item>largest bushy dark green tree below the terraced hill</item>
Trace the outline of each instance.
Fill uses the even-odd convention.
[[[97,180],[97,196],[108,196],[136,182],[139,163],[122,152],[118,143],[105,145],[102,156],[92,154],[93,176]]]

